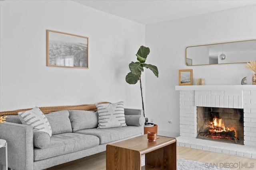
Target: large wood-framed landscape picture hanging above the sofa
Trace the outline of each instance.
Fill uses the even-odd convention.
[[[46,66],[88,67],[88,37],[46,30]]]

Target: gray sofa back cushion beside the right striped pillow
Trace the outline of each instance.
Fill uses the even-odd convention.
[[[69,118],[73,132],[98,127],[98,112],[70,110]]]

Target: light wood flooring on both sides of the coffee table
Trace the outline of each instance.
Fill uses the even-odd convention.
[[[177,147],[177,157],[184,158],[187,160],[195,160],[198,162],[217,164],[220,163],[237,163],[245,164],[247,163],[250,167],[250,164],[254,164],[254,168],[241,168],[242,170],[253,170],[256,169],[256,159],[244,158],[240,156],[233,156],[228,154],[221,154],[216,152],[209,152],[198,149],[191,149],[186,147]],[[232,164],[230,164],[232,165]],[[239,170],[239,168],[231,168],[232,170]],[[81,158],[68,162],[66,164],[61,164],[48,168],[47,170],[106,170],[106,152],[101,152],[86,158]]]

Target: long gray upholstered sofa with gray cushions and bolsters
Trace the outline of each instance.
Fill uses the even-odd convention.
[[[0,123],[0,139],[8,143],[8,166],[15,170],[42,170],[103,152],[106,145],[144,134],[140,109],[124,109],[126,127],[97,129],[93,111],[56,111],[46,114],[52,137],[23,125],[18,115]],[[0,149],[0,164],[5,165],[5,149]]]

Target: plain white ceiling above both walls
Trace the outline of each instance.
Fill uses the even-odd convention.
[[[256,4],[256,0],[73,0],[145,25]]]

